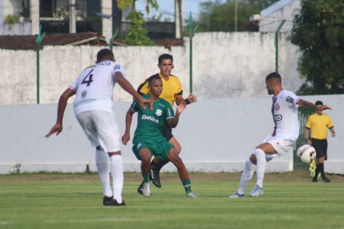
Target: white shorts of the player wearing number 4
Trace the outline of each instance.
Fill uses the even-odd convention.
[[[120,133],[113,113],[86,111],[76,115],[92,146],[101,146],[105,152],[120,151]]]

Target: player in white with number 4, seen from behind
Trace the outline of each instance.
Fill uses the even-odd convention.
[[[153,109],[152,101],[143,98],[124,78],[124,68],[115,62],[109,49],[97,54],[97,62],[86,68],[60,96],[57,121],[45,137],[60,134],[63,114],[69,97],[75,95],[74,114],[92,146],[96,147],[95,163],[103,186],[104,206],[125,206],[122,199],[123,163],[120,151],[120,133],[112,111],[112,91],[115,83],[138,99],[140,106]],[[112,189],[108,160],[111,162]]]

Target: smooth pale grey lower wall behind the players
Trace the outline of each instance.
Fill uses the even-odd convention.
[[[119,91],[115,90],[116,93]],[[333,108],[328,111],[334,122],[336,138],[328,138],[326,172],[344,174],[344,95],[307,96],[323,100]],[[116,102],[114,112],[120,132],[125,130],[129,102]],[[59,136],[44,138],[56,120],[57,104],[0,106],[0,173],[9,173],[20,164],[20,172],[83,172],[89,164],[95,171],[94,148],[84,135],[68,105],[64,129]],[[136,127],[133,119],[131,134]],[[255,146],[271,134],[271,97],[237,99],[200,99],[181,115],[174,135],[181,143],[181,157],[189,171],[237,172]],[[133,136],[131,136],[132,138]],[[125,171],[139,171],[140,162],[131,152],[131,141],[122,146]],[[268,172],[292,170],[292,152],[268,163]],[[167,165],[163,171],[176,171]]]

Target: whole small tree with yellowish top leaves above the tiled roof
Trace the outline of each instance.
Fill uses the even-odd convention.
[[[137,12],[135,8],[135,2],[137,0],[117,0],[117,7],[120,10],[124,10],[131,6],[132,11],[128,14],[127,20],[130,21],[130,29],[127,35],[121,40],[132,45],[154,45],[154,42],[148,38],[148,31],[143,28],[145,23],[144,14]],[[159,5],[157,0],[145,0],[146,12],[149,14],[150,7],[158,9]]]

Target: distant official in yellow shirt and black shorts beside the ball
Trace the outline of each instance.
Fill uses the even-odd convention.
[[[316,101],[315,105],[318,108],[323,106],[322,101]],[[309,115],[306,123],[306,139],[307,144],[312,145],[317,154],[317,168],[312,182],[318,182],[318,175],[321,173],[323,182],[328,183],[330,179],[325,176],[324,162],[327,160],[327,128],[331,131],[331,136],[335,137],[334,127],[329,115],[323,114],[321,110],[316,110],[316,113]],[[309,130],[310,136],[309,137]]]

